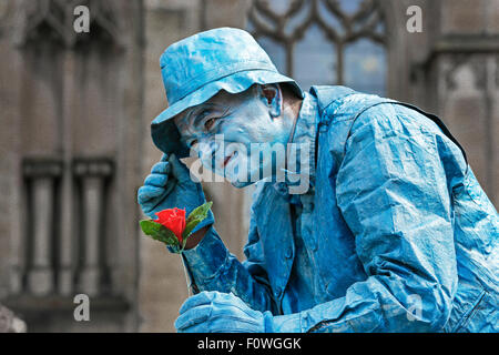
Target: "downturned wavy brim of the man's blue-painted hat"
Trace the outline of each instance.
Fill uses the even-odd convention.
[[[189,156],[189,148],[181,142],[181,136],[173,118],[189,108],[193,108],[213,98],[221,90],[228,93],[243,92],[253,84],[289,83],[294,92],[303,98],[299,85],[291,78],[275,71],[241,71],[212,81],[185,98],[176,101],[161,112],[151,123],[151,135],[154,144],[164,153],[174,153],[179,158]]]

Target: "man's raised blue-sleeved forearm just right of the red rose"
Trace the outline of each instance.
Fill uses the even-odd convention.
[[[275,311],[269,286],[255,278],[228,252],[216,230],[211,226],[203,234],[193,240],[194,247],[183,252],[191,281],[197,290],[232,292],[254,310]]]

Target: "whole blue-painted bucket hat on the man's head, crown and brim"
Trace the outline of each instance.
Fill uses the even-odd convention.
[[[281,74],[255,39],[240,29],[220,28],[183,39],[170,45],[160,62],[169,108],[152,121],[151,135],[161,151],[179,158],[189,156],[189,148],[172,119],[221,90],[240,93],[253,84],[286,82],[303,98],[298,84]]]

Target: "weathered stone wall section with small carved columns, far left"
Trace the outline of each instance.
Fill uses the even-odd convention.
[[[91,9],[89,33],[73,30],[74,1],[9,0],[4,8],[0,296],[30,331],[130,331],[142,3],[78,4]],[[73,318],[79,293],[92,300],[93,323]]]

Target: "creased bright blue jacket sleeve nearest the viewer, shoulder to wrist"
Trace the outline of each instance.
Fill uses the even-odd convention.
[[[350,131],[339,166],[337,204],[367,278],[344,297],[275,317],[277,332],[445,326],[457,287],[451,201],[435,142],[438,129],[414,114],[390,104],[367,110]]]

